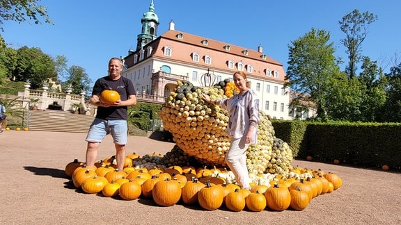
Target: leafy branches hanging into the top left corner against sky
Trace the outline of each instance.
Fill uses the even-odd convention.
[[[42,24],[39,17],[44,17],[47,24],[53,24],[47,15],[47,8],[38,5],[40,0],[0,0],[0,25],[11,20],[18,23],[33,20],[35,24]],[[0,31],[4,31],[0,26]]]

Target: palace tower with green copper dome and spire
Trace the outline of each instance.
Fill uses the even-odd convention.
[[[143,13],[141,23],[142,32],[140,35],[138,35],[136,50],[141,49],[143,46],[157,38],[157,26],[159,26],[159,17],[157,17],[155,13],[155,5],[153,4],[153,0],[150,3],[149,11]]]

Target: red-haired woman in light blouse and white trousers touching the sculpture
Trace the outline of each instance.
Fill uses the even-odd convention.
[[[249,82],[244,72],[235,72],[233,75],[235,86],[239,94],[228,99],[212,100],[203,94],[203,100],[217,104],[228,111],[227,134],[230,136],[230,149],[226,154],[226,163],[235,175],[235,179],[244,189],[251,189],[249,172],[246,167],[246,149],[249,144],[257,141],[259,124],[259,100],[255,92],[249,89]]]

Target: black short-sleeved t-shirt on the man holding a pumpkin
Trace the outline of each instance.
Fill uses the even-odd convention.
[[[104,90],[115,90],[120,94],[121,101],[128,99],[129,95],[135,94],[134,85],[128,78],[121,76],[113,81],[109,76],[97,79],[93,86],[92,94],[100,95]],[[127,120],[127,106],[97,107],[96,118],[99,119],[125,119]]]

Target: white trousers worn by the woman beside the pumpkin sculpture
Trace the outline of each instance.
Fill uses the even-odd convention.
[[[251,189],[249,172],[246,168],[246,149],[249,144],[245,144],[245,139],[246,136],[237,139],[231,138],[230,149],[228,149],[225,161],[241,188]]]

